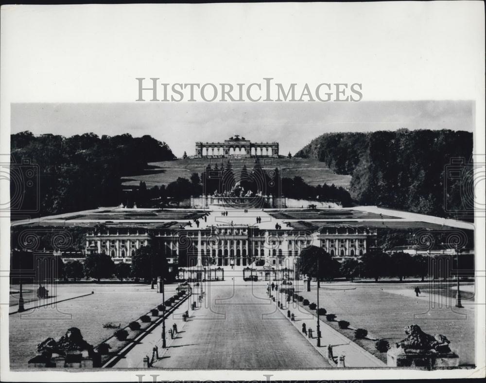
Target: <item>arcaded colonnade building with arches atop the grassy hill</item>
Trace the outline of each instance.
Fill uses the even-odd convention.
[[[224,142],[196,142],[196,158],[278,157],[278,142],[251,142],[235,135]]]

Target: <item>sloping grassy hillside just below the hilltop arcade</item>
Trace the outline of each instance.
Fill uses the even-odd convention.
[[[248,171],[251,171],[254,165],[253,158],[232,158],[230,160],[233,172],[237,177],[241,173],[243,164]],[[194,172],[203,173],[208,164],[212,168],[216,164],[221,168],[221,163],[223,162],[226,165],[227,161],[228,158],[186,158],[152,162],[149,164],[150,169],[147,169],[143,174],[123,177],[122,183],[125,186],[138,186],[140,181],[145,181],[147,187],[167,185],[178,177],[189,179]],[[260,158],[260,163],[266,170],[278,168],[281,177],[301,176],[310,185],[327,183],[348,188],[351,180],[350,175],[335,174],[326,167],[324,162],[313,158]]]

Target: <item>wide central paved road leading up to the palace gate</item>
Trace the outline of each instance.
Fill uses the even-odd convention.
[[[154,368],[180,369],[297,369],[331,365],[303,337],[265,294],[266,283],[233,284],[234,280],[205,286],[203,307],[188,322],[171,318],[180,331],[159,352]],[[223,284],[224,283],[224,284]],[[196,291],[195,291],[196,292]],[[197,293],[197,292],[196,292]],[[197,295],[195,295],[197,296]],[[180,313],[185,309],[179,310]],[[170,338],[170,337],[169,337]],[[162,351],[160,328],[147,335],[115,367],[141,367],[154,345]]]

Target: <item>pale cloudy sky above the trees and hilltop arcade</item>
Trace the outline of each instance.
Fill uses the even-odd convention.
[[[25,103],[11,105],[11,132],[30,130],[99,136],[130,133],[165,141],[177,157],[194,155],[195,142],[239,134],[253,142],[278,141],[293,155],[329,132],[452,129],[473,131],[468,101],[357,103]]]

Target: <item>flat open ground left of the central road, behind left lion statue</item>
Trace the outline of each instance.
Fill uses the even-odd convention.
[[[165,286],[166,299],[174,295],[176,286]],[[32,285],[23,287],[27,291],[34,289]],[[18,286],[11,286],[11,290],[18,291]],[[36,355],[38,343],[48,337],[57,341],[69,327],[79,328],[84,339],[96,346],[115,331],[104,329],[104,323],[121,323],[124,327],[162,303],[162,294],[145,284],[58,284],[57,291],[52,293],[65,299],[91,291],[94,294],[61,302],[56,307],[27,311],[22,317],[18,313],[9,315],[10,366],[27,368],[29,359]]]

